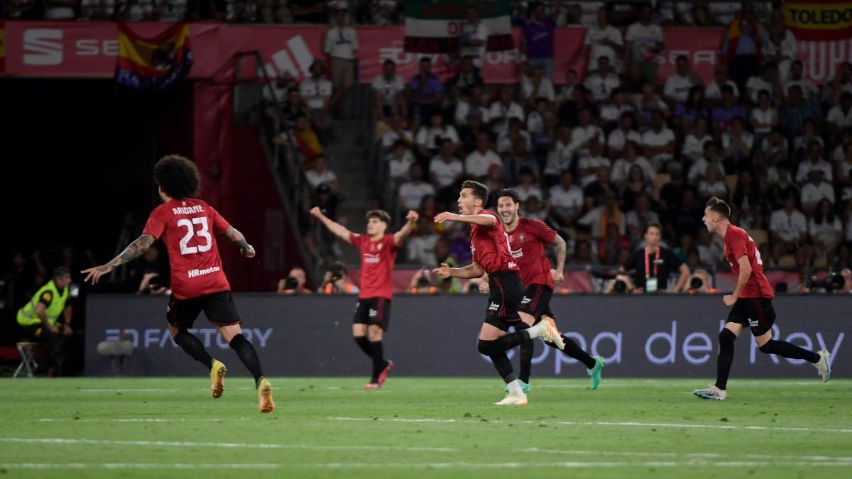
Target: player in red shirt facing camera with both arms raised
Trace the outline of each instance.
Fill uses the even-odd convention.
[[[367,211],[367,234],[350,232],[343,225],[331,221],[320,208],[312,208],[311,214],[331,233],[358,248],[361,253],[361,289],[352,320],[352,336],[373,362],[372,377],[364,388],[377,390],[394,367],[394,361],[384,359],[382,343],[390,322],[390,301],[394,298],[390,272],[394,268],[402,240],[412,233],[412,227],[417,222],[417,211],[408,211],[406,224],[394,234],[385,234],[390,215],[382,210]]]

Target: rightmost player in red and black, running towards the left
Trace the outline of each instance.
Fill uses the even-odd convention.
[[[763,261],[757,245],[746,230],[728,221],[730,215],[730,206],[721,199],[714,197],[707,201],[702,221],[707,231],[724,240],[725,259],[737,275],[737,286],[732,294],[722,297],[725,306],[733,308],[728,313],[728,322],[719,332],[716,384],[704,390],[694,390],[694,394],[717,401],[728,397],[728,372],[734,360],[734,339],[746,326],[751,327],[751,334],[761,352],[810,361],[820,372],[822,381],[827,382],[832,375],[828,351],[822,349],[813,352],[772,338],[772,325],[775,322],[772,286],[763,274]]]

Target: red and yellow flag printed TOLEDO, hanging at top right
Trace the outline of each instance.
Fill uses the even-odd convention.
[[[852,38],[852,2],[793,0],[783,5],[784,22],[798,40]]]

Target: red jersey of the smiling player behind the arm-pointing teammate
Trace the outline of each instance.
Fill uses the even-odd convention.
[[[553,289],[553,274],[544,247],[553,244],[555,239],[554,229],[530,218],[521,218],[515,230],[509,233],[509,247],[521,267],[524,286],[544,285]]]

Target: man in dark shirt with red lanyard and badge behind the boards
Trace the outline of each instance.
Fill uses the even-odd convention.
[[[634,251],[619,268],[619,273],[630,274],[636,288],[632,292],[680,292],[689,278],[689,267],[675,253],[659,245],[662,226],[659,222],[648,222],[645,226],[645,245]],[[680,272],[677,283],[668,288],[672,272]],[[632,273],[630,273],[632,272]]]

